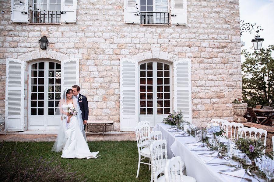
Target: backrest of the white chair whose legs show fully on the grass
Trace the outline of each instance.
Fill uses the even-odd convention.
[[[149,135],[149,125],[142,124],[135,127],[135,135],[136,135],[136,141],[137,141],[137,147],[138,149],[143,147],[145,144],[144,141],[148,140]]]

